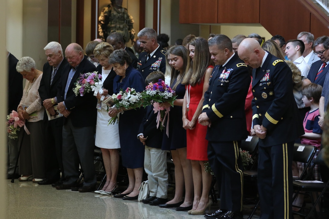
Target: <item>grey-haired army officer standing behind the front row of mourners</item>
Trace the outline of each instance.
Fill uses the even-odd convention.
[[[138,33],[140,47],[144,51],[139,54],[137,70],[144,80],[153,71],[165,73],[165,53],[157,41],[157,32],[154,29],[145,27]]]

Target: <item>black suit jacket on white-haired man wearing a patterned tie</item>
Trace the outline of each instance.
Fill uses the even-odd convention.
[[[40,81],[40,86],[38,89],[39,95],[41,98],[41,104],[45,99],[57,97],[57,94],[58,94],[57,86],[60,82],[63,69],[66,65],[68,65],[68,62],[64,58],[61,65],[57,69],[57,72],[53,79],[53,83],[50,85],[51,73],[53,72],[53,66],[50,66],[48,62],[44,63],[42,79]],[[57,99],[59,99],[59,97],[57,97]],[[44,111],[43,120],[46,120],[46,121],[48,120],[46,109]],[[54,121],[56,121],[56,122],[60,121],[61,123],[63,123],[62,119],[55,119]]]

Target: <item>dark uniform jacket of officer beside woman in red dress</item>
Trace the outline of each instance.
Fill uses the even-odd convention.
[[[247,138],[244,103],[250,81],[248,68],[237,54],[224,67],[215,66],[202,108],[211,121],[207,140],[237,141]]]

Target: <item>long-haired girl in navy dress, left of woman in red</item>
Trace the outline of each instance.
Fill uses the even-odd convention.
[[[174,107],[169,103],[160,103],[160,107],[170,107],[169,136],[164,132],[163,149],[171,151],[171,156],[175,165],[175,196],[166,204],[160,207],[176,207],[177,211],[192,209],[193,203],[193,178],[191,162],[186,158],[186,131],[182,122],[182,106],[185,94],[185,85],[182,79],[187,66],[188,52],[182,45],[171,47],[167,55],[167,64],[171,65],[170,87],[175,90],[177,99]],[[164,122],[166,124],[166,122]],[[166,129],[166,127],[165,127]],[[185,182],[185,199],[183,201]]]

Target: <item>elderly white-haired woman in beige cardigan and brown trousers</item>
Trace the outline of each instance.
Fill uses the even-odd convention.
[[[17,62],[16,70],[27,80],[17,112],[20,119],[26,120],[25,125],[30,132],[26,134],[22,130],[19,135],[22,149],[19,156],[21,177],[18,180],[33,179],[33,182],[40,182],[45,178],[42,139],[44,108],[38,92],[42,71],[36,69],[36,63],[31,57],[21,58]]]

